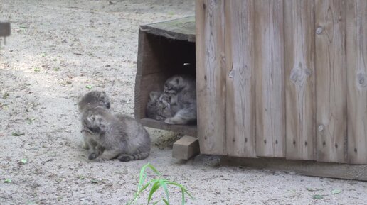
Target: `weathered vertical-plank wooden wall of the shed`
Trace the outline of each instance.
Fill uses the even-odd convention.
[[[198,0],[201,153],[367,164],[366,0]]]

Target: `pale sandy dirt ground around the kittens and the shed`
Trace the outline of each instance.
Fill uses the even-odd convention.
[[[187,204],[367,204],[366,182],[175,160],[177,136],[154,129],[146,160],[86,159],[77,97],[104,90],[113,111],[133,116],[139,24],[193,12],[192,0],[0,0],[12,26],[0,50],[0,204],[125,204],[147,162],[188,188]],[[173,189],[171,203],[180,199]]]

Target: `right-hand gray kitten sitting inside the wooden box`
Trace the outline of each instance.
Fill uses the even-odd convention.
[[[164,83],[164,99],[174,107],[174,116],[168,124],[188,124],[196,121],[196,81],[189,75],[174,75]]]

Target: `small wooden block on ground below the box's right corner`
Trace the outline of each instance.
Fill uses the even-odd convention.
[[[179,160],[188,160],[200,153],[198,138],[184,136],[174,143],[172,157]]]

